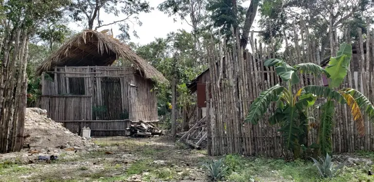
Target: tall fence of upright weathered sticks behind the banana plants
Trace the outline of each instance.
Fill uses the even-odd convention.
[[[213,41],[206,44],[208,54],[210,81],[208,86],[212,93],[210,99],[210,114],[208,117],[208,138],[212,155],[223,155],[228,153],[239,153],[244,155],[265,155],[271,157],[282,157],[285,155],[283,149],[283,138],[277,130],[279,126],[269,126],[268,118],[275,110],[272,104],[268,108],[258,125],[244,122],[249,112],[249,106],[259,94],[280,83],[281,80],[273,70],[263,66],[268,58],[282,58],[289,64],[312,62],[320,64],[319,47],[317,40],[311,38],[306,25],[301,19],[300,25],[294,25],[292,40],[287,39],[284,34],[283,45],[286,45],[283,57],[276,56],[274,41],[270,45],[254,39],[254,33],[249,37],[251,53],[239,49],[239,35],[234,35],[235,46],[228,48],[221,42],[217,45]],[[370,24],[367,24],[370,30]],[[344,39],[338,38],[335,27],[330,27],[330,51],[336,55],[339,40],[351,42],[349,31],[343,34]],[[374,30],[363,39],[361,29],[357,30],[358,42],[353,43],[353,56],[350,69],[341,88],[351,87],[361,91],[370,101],[374,102]],[[234,32],[234,31],[232,31]],[[236,31],[239,32],[239,31]],[[272,34],[270,35],[272,37]],[[222,41],[222,42],[225,42]],[[341,41],[340,41],[341,42]],[[223,58],[224,57],[224,58]],[[216,64],[218,63],[218,66]],[[322,78],[311,74],[299,75],[300,82],[294,88],[306,85],[323,85]],[[209,91],[209,90],[207,90]],[[319,122],[318,109],[309,110],[309,115]],[[209,122],[210,121],[210,122]],[[373,124],[365,117],[365,136],[360,137],[357,133],[355,122],[352,120],[350,109],[346,105],[337,105],[335,126],[333,129],[334,152],[354,152],[357,150],[374,150],[374,128]],[[311,129],[307,136],[307,144],[311,145],[317,140],[317,130]]]

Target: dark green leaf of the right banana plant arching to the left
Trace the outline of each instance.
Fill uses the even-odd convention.
[[[338,92],[329,87],[317,86],[317,85],[309,85],[302,88],[306,93],[315,94],[317,97],[325,97],[334,99],[341,104],[345,104],[344,97]]]

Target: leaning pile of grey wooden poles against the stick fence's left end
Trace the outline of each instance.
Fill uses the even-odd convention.
[[[196,149],[201,149],[201,144],[206,140],[206,117],[203,117],[198,121],[193,127],[191,127],[183,136],[178,140],[178,142],[184,142],[189,146]]]

